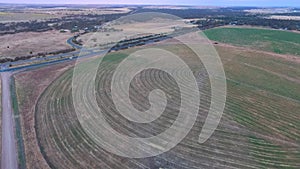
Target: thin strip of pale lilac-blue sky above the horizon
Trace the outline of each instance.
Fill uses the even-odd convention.
[[[38,4],[169,4],[199,6],[290,6],[299,7],[300,0],[0,0],[0,3]]]

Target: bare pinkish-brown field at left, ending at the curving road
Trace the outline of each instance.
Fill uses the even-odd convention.
[[[59,31],[24,32],[0,36],[0,59],[70,49],[71,33]]]

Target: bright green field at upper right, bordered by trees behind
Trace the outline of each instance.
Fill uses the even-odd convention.
[[[300,55],[300,33],[262,28],[214,28],[204,33],[213,41],[277,54]]]

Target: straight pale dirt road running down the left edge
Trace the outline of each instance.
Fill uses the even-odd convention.
[[[13,110],[10,95],[10,72],[2,77],[2,164],[1,169],[17,169],[17,151],[14,137]]]

